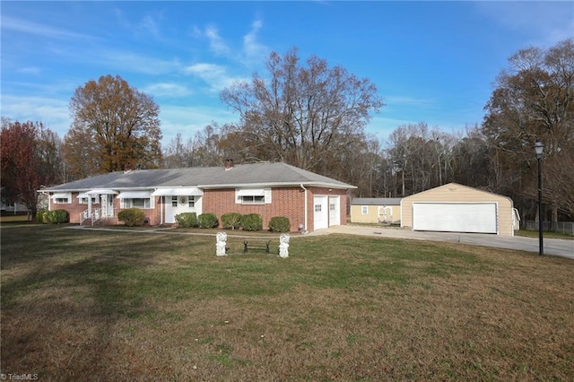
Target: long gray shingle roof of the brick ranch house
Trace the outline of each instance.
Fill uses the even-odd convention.
[[[117,171],[76,180],[42,191],[88,191],[94,188],[134,189],[154,187],[271,187],[319,186],[356,188],[286,163],[259,162],[224,167],[191,167],[186,169],[137,169]]]

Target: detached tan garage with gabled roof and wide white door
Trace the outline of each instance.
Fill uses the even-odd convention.
[[[507,196],[449,183],[404,197],[401,227],[513,236],[513,213]]]

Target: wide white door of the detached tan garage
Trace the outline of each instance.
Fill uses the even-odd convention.
[[[496,203],[413,203],[413,230],[498,233]]]

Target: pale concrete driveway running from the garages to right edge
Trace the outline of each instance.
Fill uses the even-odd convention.
[[[344,233],[351,235],[379,236],[396,239],[415,239],[429,241],[447,241],[474,246],[517,249],[538,254],[538,238],[521,236],[499,236],[480,233],[426,232],[387,227],[364,227],[356,225],[339,225],[324,230],[317,230],[309,235],[328,235]],[[544,255],[561,256],[574,259],[574,240],[544,238]]]

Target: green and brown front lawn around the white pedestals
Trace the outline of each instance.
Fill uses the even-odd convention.
[[[58,381],[566,381],[574,375],[569,259],[344,235],[294,235],[285,259],[265,251],[243,255],[243,239],[230,237],[230,256],[217,257],[214,236],[33,224],[3,224],[1,233],[6,375]]]

